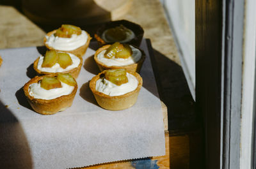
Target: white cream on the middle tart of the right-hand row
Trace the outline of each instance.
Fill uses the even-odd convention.
[[[106,50],[102,50],[97,55],[97,58],[100,62],[106,64],[107,66],[125,66],[129,64],[134,64],[140,60],[142,54],[138,48],[134,48],[131,45],[130,47],[132,48],[132,55],[127,59],[115,58],[115,57],[108,59],[104,57]]]

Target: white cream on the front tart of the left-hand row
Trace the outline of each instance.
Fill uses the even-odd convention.
[[[68,95],[74,90],[74,86],[70,86],[61,82],[61,87],[46,90],[40,86],[40,82],[29,85],[28,92],[30,96],[36,99],[55,99],[60,96]]]

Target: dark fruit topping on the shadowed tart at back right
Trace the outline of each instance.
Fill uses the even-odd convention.
[[[122,25],[116,26],[106,30],[105,37],[109,41],[122,41],[125,40],[128,31],[129,29]]]

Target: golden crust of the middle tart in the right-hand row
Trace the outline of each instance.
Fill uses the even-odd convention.
[[[125,68],[127,71],[131,71],[131,72],[137,72],[140,73],[141,70],[141,66],[143,64],[143,62],[145,61],[145,53],[143,52],[143,50],[141,50],[140,48],[138,48],[141,52],[141,58],[138,62],[135,62],[134,64],[128,64],[125,66],[107,66],[106,64],[104,64],[103,62],[100,62],[97,55],[102,51],[102,50],[106,50],[107,48],[109,48],[111,45],[104,45],[103,47],[99,48],[98,50],[96,50],[95,54],[94,54],[94,60],[97,63],[100,71],[104,71],[104,70],[112,70],[112,69],[120,69],[120,68]],[[136,47],[137,48],[137,47]]]

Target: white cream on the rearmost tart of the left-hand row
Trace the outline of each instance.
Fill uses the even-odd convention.
[[[52,47],[56,50],[70,51],[83,46],[88,39],[88,35],[85,31],[82,31],[82,33],[79,35],[72,34],[71,38],[61,38],[54,36],[54,34],[51,36],[46,35],[45,38],[45,43],[49,45],[49,47]]]

